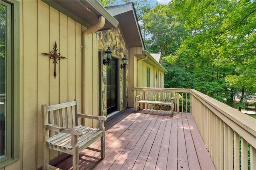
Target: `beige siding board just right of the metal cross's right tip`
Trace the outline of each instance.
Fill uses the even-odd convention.
[[[68,101],[76,98],[76,50],[75,21],[68,18]]]

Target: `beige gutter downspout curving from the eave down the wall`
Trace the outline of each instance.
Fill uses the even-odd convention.
[[[104,25],[105,25],[105,18],[103,16],[100,16],[99,21],[96,25],[84,30],[84,32],[82,33],[82,45],[81,45],[81,48],[82,48],[82,113],[87,113],[85,110],[86,109],[85,101],[86,101],[86,95],[87,95],[86,79],[85,79],[85,69],[86,68],[85,67],[86,67],[86,50],[90,50],[90,49],[88,49],[88,47],[86,47],[85,40],[89,34],[92,34],[96,31],[100,30],[101,28],[104,27]],[[84,124],[85,124],[85,122],[84,122]]]

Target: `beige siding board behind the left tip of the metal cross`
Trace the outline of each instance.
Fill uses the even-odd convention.
[[[50,78],[50,64],[49,56],[43,55],[41,53],[49,53],[49,6],[42,1],[38,1],[38,118],[37,118],[37,127],[38,127],[38,146],[37,146],[37,167],[42,166],[42,113],[41,105],[49,104],[49,78]],[[52,60],[51,60],[52,61]]]

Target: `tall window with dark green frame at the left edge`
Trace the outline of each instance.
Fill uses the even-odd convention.
[[[0,1],[0,167],[19,155],[18,2]]]

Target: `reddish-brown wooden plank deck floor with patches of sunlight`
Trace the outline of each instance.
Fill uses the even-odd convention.
[[[105,123],[106,152],[84,150],[80,170],[175,170],[215,169],[202,138],[189,113],[134,108],[110,117]],[[94,147],[100,147],[100,142]],[[63,156],[64,155],[64,156]],[[60,156],[61,157],[61,156]],[[72,169],[72,156],[62,154],[52,164]],[[59,162],[59,163],[57,163]]]

